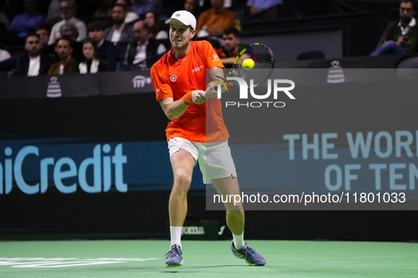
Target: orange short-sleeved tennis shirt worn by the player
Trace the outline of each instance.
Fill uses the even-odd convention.
[[[173,49],[151,68],[157,102],[165,97],[173,97],[176,101],[187,92],[206,90],[206,69],[224,68],[207,41],[191,42],[190,52],[180,61],[175,61],[172,54]],[[229,138],[223,123],[220,99],[207,99],[200,105],[190,104],[182,116],[168,123],[166,135],[167,140],[180,137],[199,143],[214,143]]]

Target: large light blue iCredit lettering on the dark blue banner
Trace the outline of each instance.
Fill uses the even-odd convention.
[[[112,186],[112,172],[115,173],[117,191],[127,192],[127,183],[123,181],[123,167],[127,163],[127,156],[122,153],[122,144],[116,145],[113,155],[111,149],[108,144],[95,145],[91,155],[86,155],[86,159],[77,165],[71,157],[42,158],[39,148],[32,145],[21,148],[13,161],[11,157],[13,150],[11,147],[6,147],[4,163],[2,163],[3,159],[0,160],[0,194],[11,192],[13,180],[23,193],[45,193],[49,176],[53,176],[54,186],[61,193],[74,193],[78,186],[86,193],[107,192]],[[33,163],[25,163],[27,159],[30,159],[30,162],[36,161],[40,165],[40,176],[35,184],[33,181],[29,184],[23,174],[23,167],[34,167]],[[87,178],[88,173],[93,173],[93,181],[90,184]],[[69,180],[64,184],[65,179]],[[76,182],[69,184],[69,181]]]

